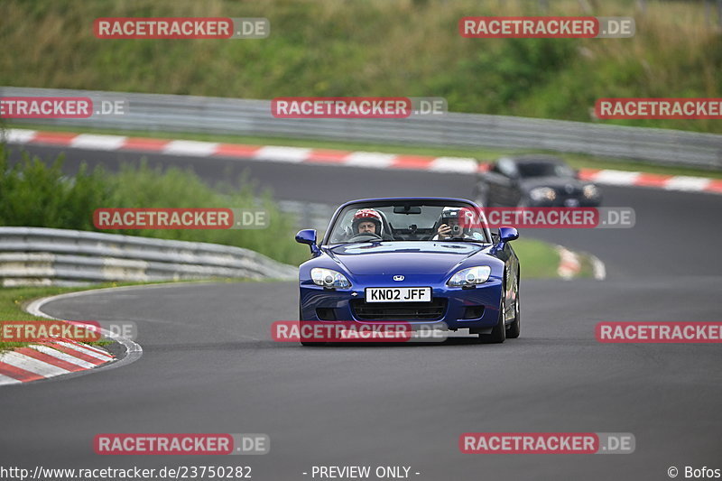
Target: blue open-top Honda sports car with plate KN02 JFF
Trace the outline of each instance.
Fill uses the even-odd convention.
[[[475,212],[464,199],[362,199],[338,208],[320,245],[301,230],[311,251],[299,272],[301,324],[404,321],[518,338],[518,234],[492,233],[483,216],[469,222]]]

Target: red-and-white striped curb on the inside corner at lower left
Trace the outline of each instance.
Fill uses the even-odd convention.
[[[0,354],[0,385],[22,384],[92,369],[113,361],[103,349],[52,339]]]

